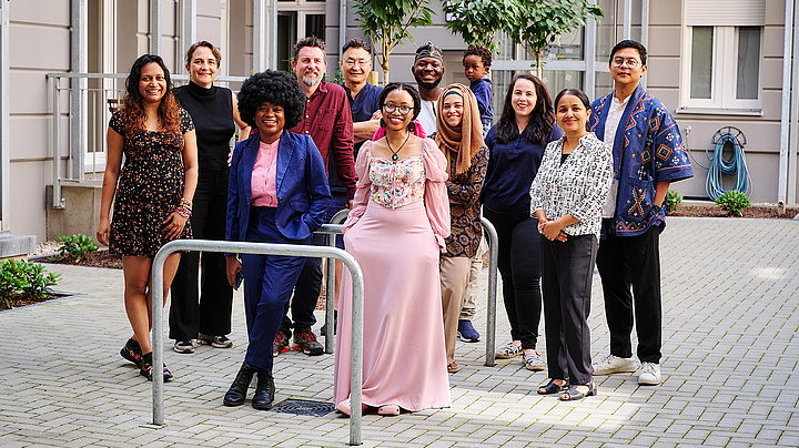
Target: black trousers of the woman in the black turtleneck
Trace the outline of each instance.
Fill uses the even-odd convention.
[[[196,240],[224,240],[227,211],[227,170],[200,173],[191,223]],[[198,333],[231,333],[233,288],[227,284],[224,254],[188,252],[181,255],[172,282],[170,338],[194,339]],[[201,265],[201,266],[199,266]],[[201,285],[198,284],[200,268]]]

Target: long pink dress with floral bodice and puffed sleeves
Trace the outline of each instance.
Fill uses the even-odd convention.
[[[451,405],[438,257],[449,235],[446,160],[429,139],[422,156],[372,157],[366,142],[344,245],[364,274],[363,403],[416,411]],[[338,301],[333,400],[350,398],[352,278]]]

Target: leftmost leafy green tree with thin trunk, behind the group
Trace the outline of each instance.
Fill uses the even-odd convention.
[[[377,62],[383,69],[383,85],[388,83],[388,57],[404,39],[413,41],[411,27],[432,24],[429,0],[355,0],[360,28],[372,41]],[[377,42],[382,51],[377,53]]]

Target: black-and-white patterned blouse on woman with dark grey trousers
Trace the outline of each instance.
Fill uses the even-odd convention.
[[[548,220],[570,214],[578,223],[564,227],[567,235],[596,235],[601,228],[601,207],[613,181],[610,147],[593,133],[560,162],[564,138],[550,142],[530,186],[530,214],[544,210]]]

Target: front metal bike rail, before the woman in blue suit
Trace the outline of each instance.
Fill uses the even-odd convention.
[[[317,232],[341,232],[341,226],[325,224]],[[163,265],[166,257],[178,251],[223,252],[236,254],[262,254],[304,257],[327,257],[341,259],[350,269],[353,279],[352,305],[352,363],[350,374],[350,445],[361,445],[362,421],[362,378],[363,378],[363,273],[355,257],[348,253],[325,246],[310,246],[297,244],[273,243],[242,243],[209,240],[175,240],[164,244],[155,254],[152,263],[152,347],[153,366],[159,375],[153,375],[153,425],[164,426],[164,396],[163,396]]]

